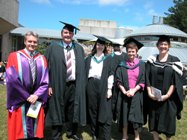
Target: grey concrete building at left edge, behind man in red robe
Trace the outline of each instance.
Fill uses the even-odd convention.
[[[2,35],[0,60],[6,60],[11,51],[10,30],[18,26],[18,0],[0,0],[0,35]]]

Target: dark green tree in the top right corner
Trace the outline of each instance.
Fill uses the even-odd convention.
[[[164,13],[164,23],[187,33],[187,0],[173,0],[174,6]]]

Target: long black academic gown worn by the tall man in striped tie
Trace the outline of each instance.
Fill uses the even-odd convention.
[[[45,52],[49,66],[49,87],[53,95],[49,97],[46,109],[46,126],[63,125],[65,120],[64,92],[66,86],[66,60],[61,42],[52,43]],[[76,63],[76,89],[73,123],[86,124],[85,62],[83,48],[73,42]]]

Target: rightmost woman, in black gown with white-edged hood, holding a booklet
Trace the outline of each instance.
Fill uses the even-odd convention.
[[[154,140],[159,140],[160,133],[170,140],[175,135],[176,117],[180,118],[183,107],[180,80],[183,65],[177,57],[169,54],[168,36],[160,36],[157,48],[159,54],[150,56],[146,65],[149,130],[153,133]],[[153,88],[160,90],[161,94]]]

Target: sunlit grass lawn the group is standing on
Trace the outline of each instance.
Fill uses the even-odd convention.
[[[0,140],[7,140],[7,123],[6,123],[6,87],[0,85]],[[80,129],[84,140],[91,140],[88,134],[88,127]],[[121,134],[118,132],[116,124],[112,126],[112,138],[113,140],[120,140]],[[65,134],[63,139],[66,139]],[[133,136],[130,136],[130,140]],[[141,133],[142,140],[152,140],[152,135],[148,132],[147,125],[144,126],[143,132]],[[184,109],[182,112],[182,119],[177,120],[177,131],[176,136],[172,137],[172,140],[186,140],[187,139],[187,101],[184,102]],[[161,135],[160,140],[165,140],[165,136]]]

